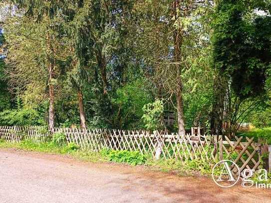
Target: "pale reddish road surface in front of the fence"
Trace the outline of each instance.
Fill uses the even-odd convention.
[[[271,191],[208,178],[0,149],[0,203],[270,203]]]

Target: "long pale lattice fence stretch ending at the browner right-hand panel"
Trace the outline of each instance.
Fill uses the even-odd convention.
[[[161,146],[162,158],[181,160],[217,158],[215,137],[190,136],[178,134],[151,134],[142,130],[107,130],[107,129],[79,129],[61,128],[56,132],[63,132],[67,142],[73,142],[81,148],[100,151],[103,148],[112,150],[140,151],[142,154],[155,154]]]

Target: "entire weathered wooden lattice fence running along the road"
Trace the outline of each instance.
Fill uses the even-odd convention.
[[[155,155],[159,149],[160,158],[178,160],[233,160],[242,170],[257,170],[261,164],[260,144],[253,138],[198,135],[165,134],[142,130],[109,130],[55,128],[54,133],[63,133],[68,143],[75,143],[85,150],[98,152],[104,148],[112,150],[139,151]],[[23,139],[36,141],[48,137],[47,127],[0,127],[0,138],[20,142]]]

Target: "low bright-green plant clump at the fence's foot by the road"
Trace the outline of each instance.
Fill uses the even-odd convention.
[[[119,151],[119,150],[102,150],[102,156],[105,156],[109,161],[117,163],[128,163],[132,166],[142,165],[146,162],[146,157],[138,151]]]

